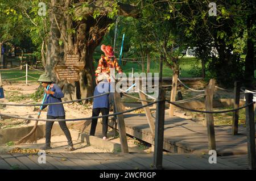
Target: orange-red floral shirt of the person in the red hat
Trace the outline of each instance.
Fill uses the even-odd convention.
[[[113,61],[112,61],[113,59]],[[98,67],[95,70],[95,76],[98,77],[98,74],[100,73],[107,73],[110,75],[110,69],[115,68],[115,70],[118,71],[118,73],[122,73],[122,69],[118,65],[117,58],[109,58],[102,56],[101,59],[98,61]]]

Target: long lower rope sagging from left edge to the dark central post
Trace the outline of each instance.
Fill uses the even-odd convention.
[[[36,118],[32,118],[32,117],[20,117],[20,116],[16,116],[16,115],[6,115],[3,113],[0,113],[0,116],[5,116],[5,117],[10,117],[10,118],[15,118],[15,119],[23,119],[23,120],[34,120],[34,121],[49,121],[49,122],[53,122],[53,121],[82,121],[82,120],[91,120],[91,119],[98,119],[98,118],[102,118],[102,117],[109,117],[109,116],[116,116],[116,115],[121,115],[123,113],[127,113],[127,112],[132,112],[135,110],[139,110],[143,107],[147,107],[147,106],[151,106],[152,104],[158,103],[160,102],[160,100],[157,100],[155,102],[152,103],[148,103],[144,106],[140,106],[137,108],[133,108],[131,110],[127,110],[127,111],[122,111],[122,112],[116,112],[116,113],[112,113],[112,114],[108,114],[108,115],[102,115],[102,116],[94,116],[94,117],[84,117],[84,118],[77,118],[77,119],[36,119]]]

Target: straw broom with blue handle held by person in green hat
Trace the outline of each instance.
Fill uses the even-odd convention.
[[[46,90],[47,91],[49,90],[49,85],[47,86]],[[47,94],[44,93],[42,104],[44,103],[44,100],[46,100],[46,95]],[[40,117],[42,108],[43,108],[43,106],[40,106],[37,119],[39,119],[39,117]],[[20,138],[20,140],[16,141],[16,144],[21,144],[21,143],[25,143],[25,142],[36,142],[36,128],[38,128],[38,121],[35,121],[34,127],[30,131],[30,133],[28,133],[26,136]]]

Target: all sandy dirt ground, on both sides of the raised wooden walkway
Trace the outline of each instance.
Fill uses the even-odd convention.
[[[3,82],[3,89],[5,92],[5,98],[1,99],[0,102],[6,103],[15,103],[15,104],[25,104],[25,103],[36,103],[34,100],[30,98],[30,95],[33,94],[36,90],[38,90],[39,83],[31,82],[26,85],[24,82]],[[194,88],[195,89],[195,88]],[[197,87],[197,89],[203,89],[203,87]],[[183,99],[192,98],[196,95],[203,94],[204,92],[194,92],[184,87],[178,87],[177,91],[181,91],[183,95]],[[166,91],[167,99],[168,96],[170,97],[170,91]],[[214,92],[214,98],[233,98],[233,92],[223,91],[223,90],[216,90]],[[242,96],[241,96],[242,98]],[[204,98],[201,98],[204,100]],[[131,100],[127,97],[123,97],[122,101],[124,102],[134,102],[136,103],[137,100]],[[137,102],[138,103],[138,102]],[[137,106],[137,104],[135,104]],[[133,106],[131,106],[133,107]],[[126,107],[129,110],[131,107]],[[81,118],[81,117],[90,117],[92,115],[92,105],[90,103],[81,105],[79,103],[69,103],[64,104],[65,112],[66,112],[66,119],[73,119],[73,118]],[[217,108],[214,110],[221,110],[223,108]],[[39,107],[14,107],[14,106],[0,106],[1,113],[10,114],[10,115],[19,115],[22,117],[36,117],[38,114]],[[155,111],[152,111],[154,113]],[[193,119],[197,122],[202,122],[204,120],[203,113],[192,113],[180,109],[175,109],[175,112],[179,113],[179,115],[184,115],[188,119]],[[46,118],[47,109],[43,110],[41,113],[40,118]],[[111,112],[110,112],[111,113]],[[137,110],[133,113],[144,113],[144,110]],[[244,116],[241,116],[240,123],[243,123]],[[101,119],[99,119],[101,121]],[[232,123],[232,114],[226,113],[224,115],[214,115],[214,121],[216,125],[222,124],[230,124]],[[77,123],[77,122],[76,122]],[[76,124],[75,123],[75,124]],[[40,121],[39,124],[45,124],[44,122]],[[11,127],[25,127],[28,125],[34,125],[34,121],[27,121],[27,120],[19,120],[19,119],[10,119],[8,117],[2,117],[0,121],[0,129],[11,128]],[[75,144],[76,151],[104,151],[101,149],[93,148],[92,146],[81,145],[81,142],[77,140],[77,136],[79,131],[77,131],[77,127],[71,129],[72,137]],[[100,134],[98,134],[100,136]],[[110,138],[113,142],[120,142],[119,138]],[[127,137],[129,147],[135,149],[136,151],[151,151],[151,145],[144,143],[143,141],[136,140],[133,137]],[[65,136],[53,136],[52,137],[53,147],[55,149],[53,151],[63,150],[64,146],[67,145],[65,141]],[[44,143],[44,138],[38,140],[38,145],[41,146]],[[24,145],[26,147],[28,145]],[[35,146],[35,145],[34,145]],[[31,148],[34,148],[33,145],[30,145]],[[10,149],[13,147],[7,146],[3,147],[2,149]]]

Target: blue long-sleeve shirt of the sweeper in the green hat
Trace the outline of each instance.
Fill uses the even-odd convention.
[[[44,101],[44,104],[48,103],[59,103],[62,102],[61,98],[64,97],[63,92],[61,91],[60,87],[56,84],[53,84],[50,86],[51,88],[49,90],[53,91],[54,94],[47,94],[46,100]],[[47,106],[43,106],[42,110],[46,108]],[[65,110],[63,107],[63,104],[55,104],[55,105],[49,105],[47,115],[49,116],[65,116]]]

